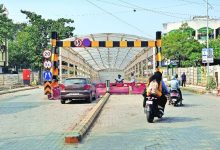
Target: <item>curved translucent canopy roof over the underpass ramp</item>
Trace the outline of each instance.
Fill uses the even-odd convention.
[[[74,41],[76,38],[90,41],[149,41],[152,39],[123,33],[97,33],[77,36],[65,40]],[[63,40],[63,41],[65,41]],[[65,47],[62,47],[65,48]],[[71,47],[72,51],[81,55],[95,70],[123,70],[135,56],[147,47]]]

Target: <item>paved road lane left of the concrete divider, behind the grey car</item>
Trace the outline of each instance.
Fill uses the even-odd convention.
[[[94,105],[62,105],[43,89],[0,95],[0,150],[62,149],[65,134]]]

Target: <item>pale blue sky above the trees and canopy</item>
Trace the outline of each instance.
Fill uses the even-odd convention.
[[[206,15],[206,0],[0,0],[14,22],[27,22],[20,10],[46,19],[74,20],[74,34],[126,33],[155,38],[163,23]],[[220,19],[220,0],[209,0],[209,16]]]

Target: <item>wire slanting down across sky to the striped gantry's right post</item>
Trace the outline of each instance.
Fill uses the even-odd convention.
[[[126,22],[125,20],[119,18],[118,16],[115,16],[115,15],[112,14],[111,12],[108,12],[107,10],[105,10],[105,9],[103,9],[102,7],[96,5],[95,3],[93,3],[93,2],[91,2],[91,1],[89,1],[89,0],[86,0],[86,1],[89,2],[90,4],[92,4],[93,6],[99,8],[99,9],[102,10],[103,12],[105,12],[105,13],[111,15],[112,17],[114,17],[115,19],[119,20],[120,22],[122,22],[122,23],[124,23],[124,24],[126,24],[126,25],[128,25],[128,26],[130,26],[130,27],[132,27],[132,28],[134,28],[134,29],[136,29],[137,31],[139,31],[139,32],[142,33],[142,34],[143,34],[143,33],[145,34],[145,32],[144,32],[143,30],[141,30],[140,28],[138,28],[138,27],[136,27],[136,26],[134,26],[134,25],[132,25],[132,24]],[[147,35],[147,34],[145,34],[145,35]],[[150,37],[150,38],[153,38],[153,37],[150,36],[150,35],[147,35],[147,36]]]

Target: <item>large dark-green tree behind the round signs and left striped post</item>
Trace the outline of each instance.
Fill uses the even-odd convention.
[[[29,21],[29,27],[26,28],[26,31],[28,32],[28,37],[30,37],[30,39],[26,42],[30,43],[29,45],[32,45],[32,48],[29,49],[31,50],[31,67],[32,69],[39,70],[40,77],[43,64],[42,51],[49,46],[48,43],[51,32],[58,32],[60,39],[69,38],[73,36],[73,31],[75,28],[71,26],[71,23],[74,21],[72,19],[65,18],[46,20],[42,18],[41,15],[24,10],[21,10],[21,13],[25,14]]]

